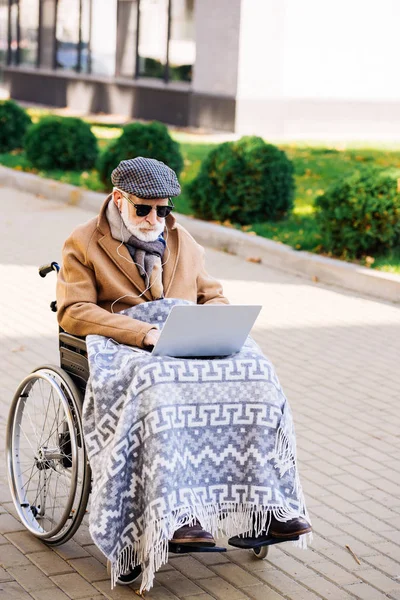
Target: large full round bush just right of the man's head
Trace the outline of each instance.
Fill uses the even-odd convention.
[[[188,186],[197,217],[249,225],[278,220],[293,206],[294,169],[286,154],[257,136],[225,142]]]

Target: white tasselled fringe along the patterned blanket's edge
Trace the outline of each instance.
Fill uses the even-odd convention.
[[[297,509],[282,505],[259,506],[235,502],[204,505],[201,502],[194,502],[191,506],[184,506],[158,521],[152,521],[150,517],[146,519],[146,515],[144,515],[144,522],[147,523],[145,533],[132,545],[123,548],[116,560],[112,561],[112,588],[116,585],[120,575],[140,564],[143,570],[140,592],[150,590],[155,573],[168,561],[168,542],[174,532],[179,527],[194,524],[196,520],[214,537],[219,537],[221,534],[227,537],[235,535],[245,537],[253,531],[255,531],[255,535],[260,535],[262,531],[268,532],[272,515],[281,522],[299,516],[304,516],[310,522],[296,468],[293,437],[289,436],[287,431],[282,428],[279,428],[277,432],[275,450],[271,458],[281,477],[289,469],[294,469],[293,493],[298,501]],[[293,542],[293,545],[306,549],[311,541],[312,534],[306,534],[300,536],[298,541]]]

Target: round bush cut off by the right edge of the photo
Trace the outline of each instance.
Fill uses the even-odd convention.
[[[316,200],[323,247],[335,256],[360,258],[400,243],[398,176],[358,173]]]

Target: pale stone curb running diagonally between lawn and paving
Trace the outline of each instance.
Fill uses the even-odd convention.
[[[44,179],[33,173],[16,171],[0,165],[0,185],[51,198],[97,212],[104,201],[104,193],[91,192],[74,185]],[[400,302],[400,276],[383,273],[311,252],[297,251],[291,246],[267,238],[249,235],[236,229],[177,214],[177,221],[196,240],[212,248],[235,254],[245,259],[256,259],[267,266],[312,281],[336,285],[359,294]]]

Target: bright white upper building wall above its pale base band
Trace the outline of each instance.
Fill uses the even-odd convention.
[[[400,99],[400,0],[242,0],[238,96]]]

